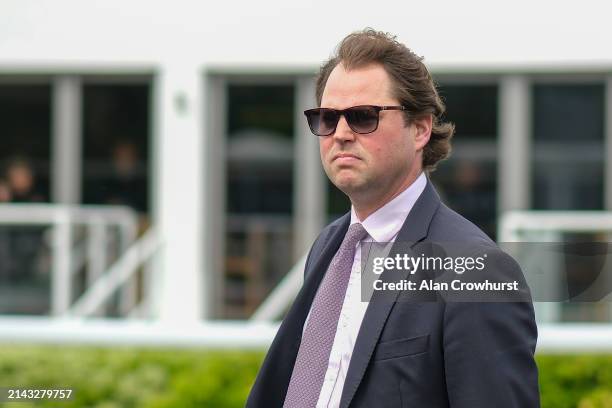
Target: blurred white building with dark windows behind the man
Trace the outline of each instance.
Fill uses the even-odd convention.
[[[508,210],[612,210],[610,11],[0,0],[0,161],[27,155],[52,203],[111,204],[103,180],[127,141],[134,205],[161,242],[150,314],[245,316],[348,209],[302,111],[321,62],[366,26],[397,34],[440,84],[457,135],[432,179],[451,206],[492,234]]]

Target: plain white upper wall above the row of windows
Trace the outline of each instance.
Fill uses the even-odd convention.
[[[0,0],[0,67],[180,59],[312,69],[365,26],[396,33],[434,67],[601,66],[612,64],[611,11],[605,0]]]

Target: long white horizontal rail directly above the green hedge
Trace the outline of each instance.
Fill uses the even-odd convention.
[[[137,347],[203,347],[265,350],[274,322],[207,321],[171,324],[154,320],[0,317],[0,344]],[[588,335],[585,335],[588,334]],[[538,326],[538,354],[612,353],[612,325]]]

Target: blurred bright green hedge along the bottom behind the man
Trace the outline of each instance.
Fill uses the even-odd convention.
[[[0,386],[74,399],[4,406],[242,407],[263,353],[0,345]],[[538,356],[543,408],[612,408],[612,356]]]

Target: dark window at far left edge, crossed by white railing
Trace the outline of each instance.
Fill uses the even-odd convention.
[[[51,86],[0,85],[0,202],[50,200]],[[48,247],[40,226],[0,225],[0,313],[50,306]]]

